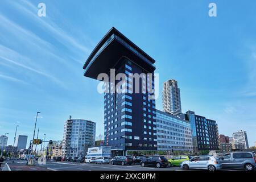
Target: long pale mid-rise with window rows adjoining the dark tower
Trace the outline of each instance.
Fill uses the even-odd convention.
[[[191,152],[192,132],[189,121],[156,110],[158,151]]]

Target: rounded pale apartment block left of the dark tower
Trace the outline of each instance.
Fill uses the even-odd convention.
[[[85,156],[88,147],[94,146],[96,123],[85,119],[68,119],[64,124],[63,156]]]

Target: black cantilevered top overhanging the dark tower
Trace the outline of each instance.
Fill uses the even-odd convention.
[[[155,71],[155,60],[112,27],[90,53],[83,67],[84,76],[97,79],[100,73],[109,73],[122,57],[133,60],[148,73]]]

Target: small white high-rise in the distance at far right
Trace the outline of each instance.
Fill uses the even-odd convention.
[[[249,144],[247,140],[246,131],[238,131],[233,133],[234,144],[236,149],[248,149]]]

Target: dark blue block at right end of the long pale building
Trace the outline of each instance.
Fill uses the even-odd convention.
[[[193,151],[218,150],[218,125],[216,121],[187,111],[186,119],[191,123]]]

